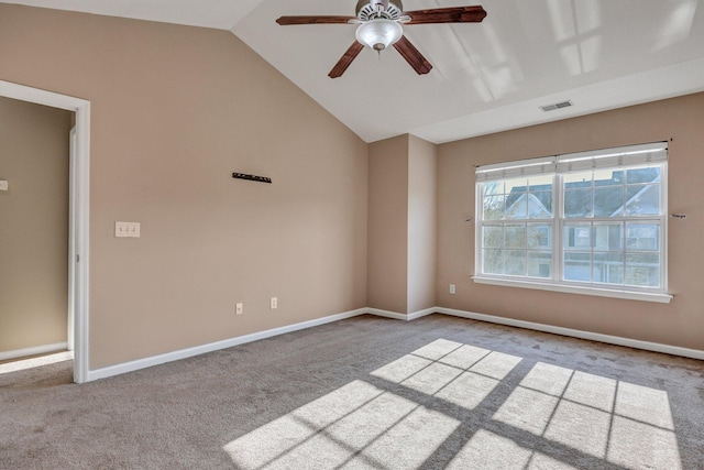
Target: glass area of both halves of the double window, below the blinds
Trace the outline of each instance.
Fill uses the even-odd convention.
[[[477,183],[477,271],[619,291],[661,288],[666,182],[664,165],[653,165]]]

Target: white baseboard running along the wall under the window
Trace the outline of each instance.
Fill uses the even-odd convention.
[[[623,338],[619,336],[602,335],[598,332],[582,331],[571,328],[556,327],[552,325],[516,320],[513,318],[495,317],[493,315],[475,314],[473,311],[455,310],[452,308],[438,307],[435,309],[435,311],[437,311],[438,314],[451,315],[453,317],[469,318],[472,320],[487,321],[492,324],[506,325],[509,327],[569,336],[572,338],[588,339],[591,341],[605,342],[608,345],[626,346],[628,348],[642,349],[646,351],[663,352],[666,354],[704,360],[704,351],[698,349],[681,348],[679,346],[662,345],[659,342],[640,341],[637,339]]]

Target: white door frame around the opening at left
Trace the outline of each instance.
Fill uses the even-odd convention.
[[[75,147],[70,152],[69,200],[69,347],[74,349],[74,382],[89,376],[88,283],[89,283],[89,199],[90,199],[90,101],[0,80],[0,96],[66,109],[76,113]],[[73,308],[72,308],[73,307]],[[72,325],[73,324],[73,325]]]

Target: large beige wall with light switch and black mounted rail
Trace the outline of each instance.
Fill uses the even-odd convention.
[[[233,34],[2,3],[0,57],[91,102],[91,369],[366,305],[367,145]]]

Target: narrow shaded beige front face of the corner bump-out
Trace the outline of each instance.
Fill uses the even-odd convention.
[[[408,135],[370,145],[367,306],[408,310]]]

